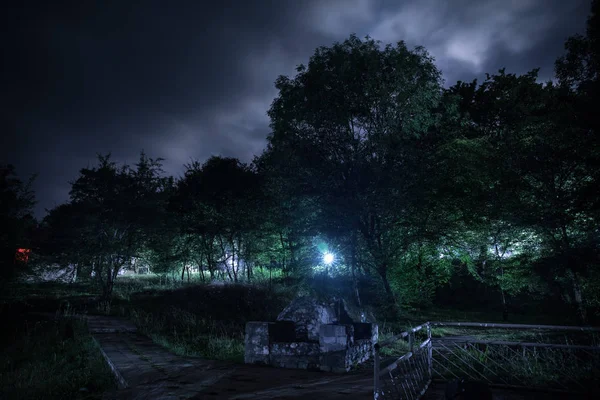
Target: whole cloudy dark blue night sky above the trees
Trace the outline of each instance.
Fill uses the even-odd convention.
[[[588,0],[13,3],[0,14],[0,162],[39,174],[37,217],[97,153],[134,163],[143,149],[175,176],[211,155],[251,161],[277,76],[350,33],[425,46],[447,86],[502,67],[540,67],[547,80],[590,10]]]

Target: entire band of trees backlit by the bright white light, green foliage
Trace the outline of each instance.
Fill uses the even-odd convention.
[[[556,83],[502,69],[444,89],[422,47],[355,35],[319,47],[277,78],[252,164],[212,157],[175,181],[144,154],[136,168],[100,157],[46,219],[41,248],[78,276],[96,272],[105,297],[135,257],[170,284],[316,293],[336,292],[323,283],[335,277],[357,303],[376,278],[368,295],[396,316],[560,298],[586,320],[600,293],[597,8],[566,42]]]

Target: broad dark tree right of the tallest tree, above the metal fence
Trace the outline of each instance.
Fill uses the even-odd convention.
[[[479,86],[451,88],[469,124],[446,145],[454,171],[448,184],[483,231],[511,226],[537,235],[540,251],[556,261],[553,275],[569,283],[585,319],[583,271],[573,256],[595,232],[597,207],[589,200],[598,198],[598,144],[571,122],[576,101],[570,91],[538,83],[537,71],[516,76],[504,70]],[[462,179],[466,191],[458,190]]]

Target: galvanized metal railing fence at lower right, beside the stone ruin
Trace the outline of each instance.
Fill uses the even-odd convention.
[[[431,328],[488,328],[554,332],[600,332],[600,328],[461,322],[427,322],[375,346],[374,398],[419,399],[432,380],[466,378],[494,386],[585,392],[600,379],[600,346],[431,338]],[[415,333],[427,338],[415,344]],[[408,352],[391,363],[381,350],[408,340]],[[389,360],[388,360],[389,361]]]

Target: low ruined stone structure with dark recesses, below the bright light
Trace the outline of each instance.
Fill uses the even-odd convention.
[[[347,372],[369,359],[378,338],[377,325],[357,322],[365,318],[364,313],[356,314],[349,312],[341,299],[321,302],[299,297],[276,322],[246,324],[244,361],[279,368]]]

